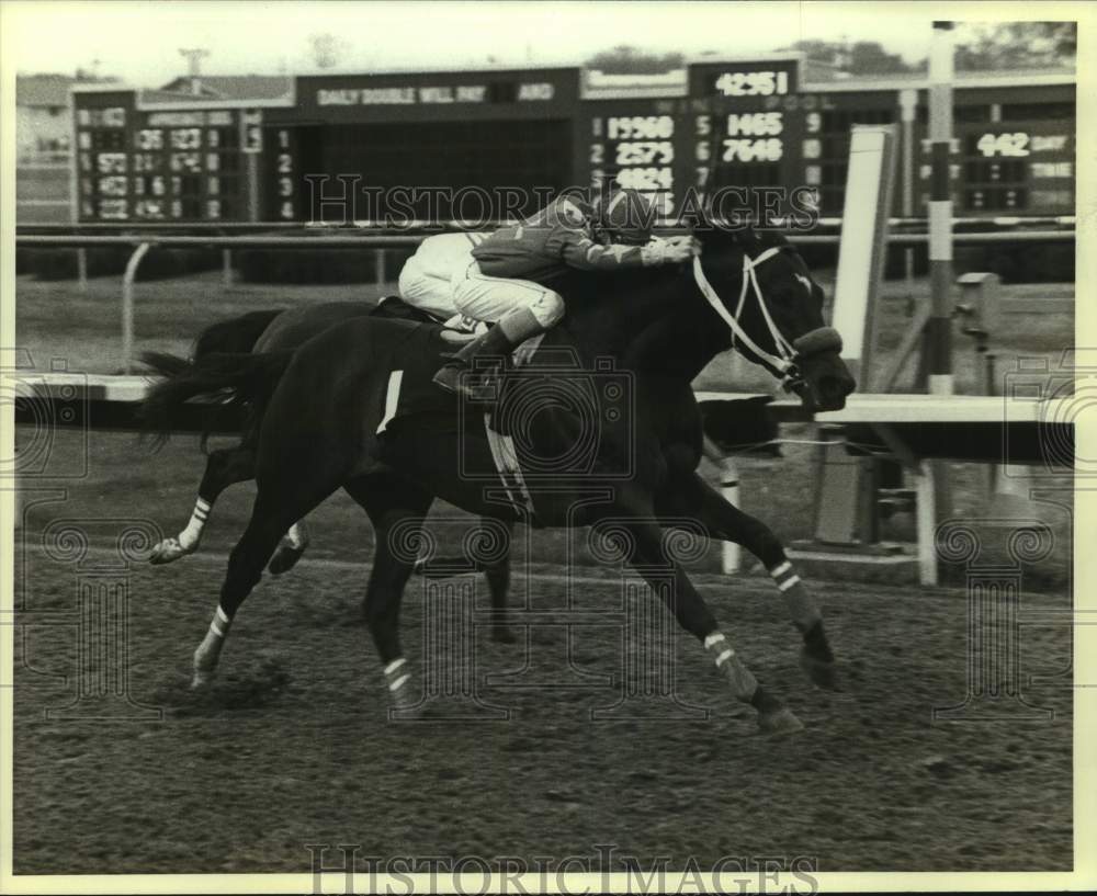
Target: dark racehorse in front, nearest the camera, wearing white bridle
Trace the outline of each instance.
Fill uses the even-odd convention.
[[[674,556],[664,528],[692,523],[713,537],[737,542],[772,575],[803,636],[801,660],[816,683],[833,683],[834,657],[822,615],[795,575],[784,548],[759,520],[727,503],[701,479],[701,424],[690,383],[716,353],[733,344],[768,367],[813,409],[838,409],[853,382],[839,358],[840,339],[824,325],[823,292],[795,250],[774,234],[698,234],[702,254],[693,265],[652,269],[614,279],[586,277],[568,286],[567,314],[550,331],[536,358],[563,351],[587,371],[626,371],[634,412],[609,421],[610,398],[592,390],[604,431],[593,463],[565,469],[551,485],[530,489],[535,519],[547,526],[603,525],[626,563],[668,603],[749,703],[765,730],[799,729],[800,722],[747,669]],[[426,329],[425,329],[426,328]],[[398,612],[414,556],[400,548],[436,499],[513,521],[523,512],[493,497],[465,475],[488,468],[493,456],[476,421],[482,408],[444,406],[396,417],[377,431],[378,383],[393,383],[402,345],[430,349],[437,368],[446,349],[441,328],[355,318],[310,339],[296,352],[212,356],[183,373],[208,393],[259,390],[263,402],[256,458],[258,492],[251,520],[234,548],[210,631],[194,655],[195,682],[213,674],[242,601],[258,582],[282,533],[336,489],[346,488],[365,509],[376,549],[364,601],[367,625],[397,708],[418,702],[400,650]],[[418,363],[408,359],[409,366]],[[427,374],[429,378],[429,373]],[[524,374],[496,384],[521,402]],[[514,388],[511,389],[511,384]],[[193,393],[192,393],[193,394]],[[456,400],[456,399],[452,399]],[[564,456],[584,438],[581,421],[564,401],[543,401],[520,433],[529,456]],[[497,418],[498,419],[498,418]],[[496,489],[498,491],[498,489]],[[664,587],[670,571],[672,587]]]

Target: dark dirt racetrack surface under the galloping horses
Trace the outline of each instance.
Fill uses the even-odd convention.
[[[264,579],[237,616],[220,678],[194,694],[190,657],[215,605],[218,545],[167,567],[142,563],[135,548],[138,558],[117,567],[110,494],[88,483],[72,491],[105,526],[84,526],[86,554],[49,530],[65,503],[50,519],[32,510],[16,536],[16,874],[307,872],[309,843],[531,862],[612,844],[642,865],[661,855],[702,867],[721,857],[808,857],[823,871],[1072,866],[1065,597],[1021,600],[1022,622],[1037,620],[1019,630],[1022,690],[1050,717],[935,722],[934,707],[966,691],[962,590],[816,583],[841,661],[845,690],[830,694],[800,672],[768,580],[699,575],[724,631],[806,725],[774,740],[733,715],[700,647],[672,628],[653,653],[670,651],[681,701],[710,716],[694,708],[668,721],[685,711],[640,694],[637,712],[660,717],[592,721],[591,710],[612,705],[632,680],[637,667],[623,657],[644,646],[622,628],[619,577],[581,570],[567,609],[561,577],[516,568],[512,605],[538,611],[529,643],[494,644],[476,630],[473,667],[480,701],[510,717],[453,719],[454,704],[441,701],[425,722],[393,723],[360,621],[366,568],[358,556],[306,555],[287,576]],[[182,510],[154,498],[138,509],[154,518]],[[161,717],[55,717],[82,687],[87,650],[98,649],[78,639],[75,611],[87,589],[120,580],[129,594],[128,695]],[[402,625],[421,674],[425,583],[412,586]],[[630,600],[655,608],[646,592]],[[661,613],[649,627],[661,631]],[[452,635],[457,620],[448,619]],[[431,658],[456,668],[453,648],[434,644]],[[76,704],[92,714],[101,705]],[[120,706],[148,712],[124,702],[104,712]],[[994,712],[1010,707],[999,701]]]

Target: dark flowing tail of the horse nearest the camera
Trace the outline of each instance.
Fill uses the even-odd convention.
[[[178,427],[183,404],[192,398],[205,399],[214,411],[235,411],[248,406],[251,413],[245,428],[248,433],[253,421],[262,417],[292,358],[290,349],[260,354],[214,352],[193,361],[146,352],[142,360],[156,372],[166,374],[142,402],[140,419],[146,436],[151,436],[152,445],[160,447]],[[207,419],[203,442],[208,426]]]

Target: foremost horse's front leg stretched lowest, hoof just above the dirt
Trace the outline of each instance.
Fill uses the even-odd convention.
[[[681,566],[667,556],[663,530],[656,522],[625,523],[629,538],[617,541],[627,563],[663,597],[678,624],[704,646],[705,653],[732,687],[736,700],[758,712],[758,726],[772,734],[789,734],[803,724],[777,696],[766,691],[719,630],[716,620]],[[626,543],[630,542],[630,543]],[[666,588],[664,574],[672,574],[674,588]]]

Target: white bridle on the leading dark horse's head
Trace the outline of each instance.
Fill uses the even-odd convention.
[[[773,322],[773,317],[769,313],[769,306],[766,304],[766,297],[758,285],[758,274],[755,271],[771,258],[776,258],[782,248],[784,247],[772,246],[755,258],[750,258],[746,252],[743,253],[743,286],[739,290],[739,300],[735,306],[735,314],[727,310],[727,306],[724,305],[720,295],[712,287],[712,284],[709,283],[709,279],[704,275],[704,269],[701,265],[700,256],[693,257],[693,280],[697,282],[701,295],[705,297],[712,309],[720,315],[728,329],[731,329],[732,348],[742,344],[751,354],[756,355],[758,360],[773,368],[785,389],[793,389],[803,385],[804,382],[800,367],[796,364],[798,359],[821,351],[841,351],[841,337],[832,327],[818,327],[790,342],[784,338],[777,324]],[[773,345],[778,354],[767,352],[759,347],[749,337],[743,325],[739,324],[739,317],[746,305],[748,291],[754,293],[755,298],[758,300],[762,320],[766,321],[766,327],[773,340]]]

